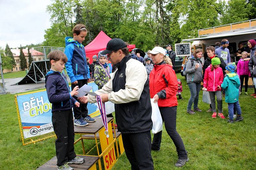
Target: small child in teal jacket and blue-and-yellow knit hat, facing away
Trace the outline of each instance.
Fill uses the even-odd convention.
[[[234,123],[234,108],[237,111],[237,117],[235,121],[238,122],[243,120],[241,108],[238,101],[240,81],[235,71],[236,64],[228,63],[225,71],[227,76],[224,78],[224,81],[221,84],[221,88],[226,91],[225,102],[228,103],[228,123]]]

